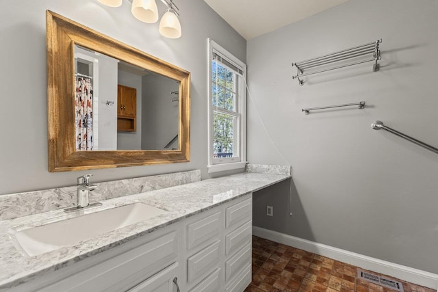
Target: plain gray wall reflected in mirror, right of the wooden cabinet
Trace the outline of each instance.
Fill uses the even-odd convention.
[[[177,95],[178,82],[157,74],[142,78],[143,92],[143,131],[142,149],[163,149],[178,134],[178,105],[172,103]],[[178,143],[175,143],[178,148]]]

